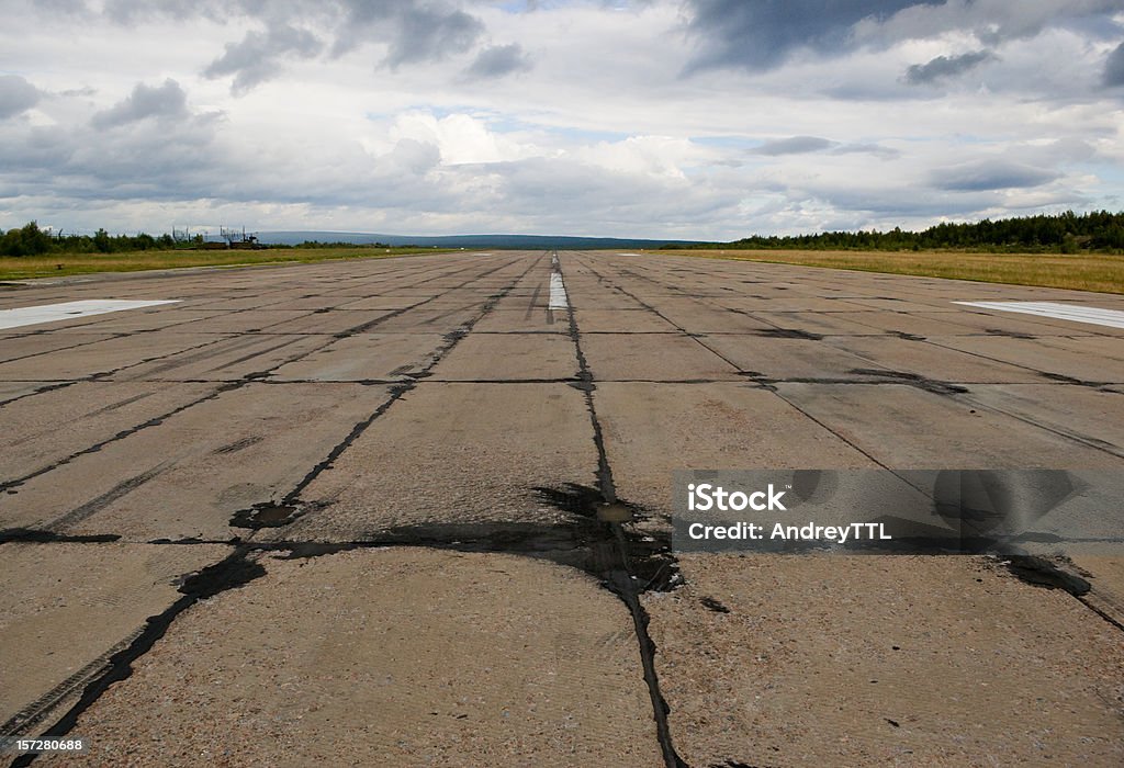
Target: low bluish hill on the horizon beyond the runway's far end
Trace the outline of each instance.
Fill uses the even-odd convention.
[[[257,232],[261,243],[297,245],[306,240],[320,243],[354,243],[370,245],[384,243],[390,246],[434,246],[437,248],[508,248],[513,250],[568,250],[596,248],[660,248],[671,245],[695,245],[698,240],[647,240],[617,237],[568,237],[553,235],[446,235],[443,237],[413,237],[407,235],[378,235],[371,232],[277,231]]]

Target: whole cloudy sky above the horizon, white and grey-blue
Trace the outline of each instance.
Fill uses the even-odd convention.
[[[0,228],[1124,209],[1124,0],[0,0]]]

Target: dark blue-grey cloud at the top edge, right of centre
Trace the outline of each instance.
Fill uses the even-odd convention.
[[[819,53],[846,47],[851,28],[868,18],[882,19],[914,6],[943,0],[688,0],[689,33],[699,52],[688,71],[740,67],[773,68],[798,48]]]

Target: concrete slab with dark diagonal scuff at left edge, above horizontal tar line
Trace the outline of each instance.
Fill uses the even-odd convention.
[[[356,384],[221,392],[20,485],[0,527],[227,539],[235,512],[283,497],[387,396]]]

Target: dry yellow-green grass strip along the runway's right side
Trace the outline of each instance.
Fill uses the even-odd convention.
[[[1061,254],[858,250],[660,250],[653,253],[1124,293],[1124,256],[1108,254],[1069,256]]]

